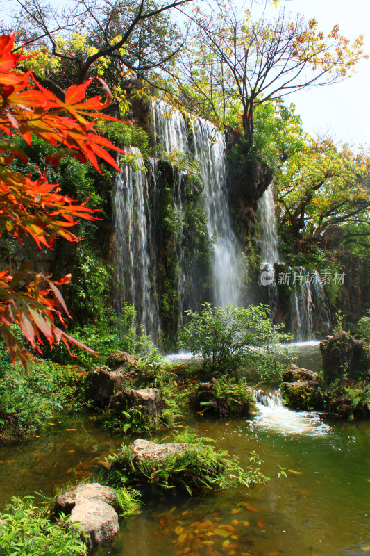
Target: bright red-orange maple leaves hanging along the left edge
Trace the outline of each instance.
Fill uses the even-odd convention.
[[[41,171],[36,180],[12,171],[10,165],[15,157],[28,162],[14,138],[22,136],[30,144],[32,136],[38,136],[58,149],[47,157],[51,164],[58,164],[62,156],[74,156],[81,163],[90,161],[99,172],[98,157],[119,170],[106,149],[124,151],[94,131],[96,118],[115,120],[97,112],[110,104],[106,83],[99,80],[106,90],[104,102],[99,97],[85,98],[92,79],[69,87],[61,101],[37,83],[32,72],[17,70],[17,64],[26,56],[12,52],[14,38],[14,34],[0,36],[0,236],[6,230],[21,242],[22,236],[28,236],[39,248],[52,248],[56,236],[78,241],[70,228],[76,219],[95,220],[94,211],[87,208],[86,202],[78,204],[61,195],[58,184],[48,183]],[[57,286],[68,284],[71,275],[53,281],[30,269],[31,262],[12,275],[9,270],[0,272],[0,333],[12,361],[20,359],[26,367],[27,358],[31,357],[12,331],[12,324],[22,329],[39,353],[45,339],[50,347],[62,341],[69,353],[71,344],[90,350],[59,327],[65,325],[63,315],[70,315]]]

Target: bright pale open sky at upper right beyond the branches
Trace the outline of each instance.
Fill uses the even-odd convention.
[[[292,13],[317,19],[324,32],[338,24],[351,41],[364,35],[364,51],[370,56],[370,0],[289,0],[285,6]],[[370,145],[370,58],[358,64],[351,79],[300,91],[289,99],[308,133],[330,131],[338,141]]]

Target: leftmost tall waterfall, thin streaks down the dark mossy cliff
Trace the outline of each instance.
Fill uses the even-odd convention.
[[[118,174],[114,199],[116,306],[133,303],[137,325],[158,339],[158,304],[151,286],[148,180],[142,154],[137,147],[126,149],[131,161]]]

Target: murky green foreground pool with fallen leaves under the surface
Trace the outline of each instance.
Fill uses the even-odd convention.
[[[307,347],[308,352],[300,347],[301,357],[317,361],[318,345]],[[271,477],[267,485],[192,499],[155,496],[94,555],[364,556],[368,548],[370,553],[370,421],[260,409],[250,420],[203,417],[186,424],[242,464],[251,451],[258,452]],[[40,439],[0,448],[0,503],[14,494],[51,494],[67,480],[91,477],[123,440],[90,416],[55,416]],[[278,479],[278,465],[287,477]]]

